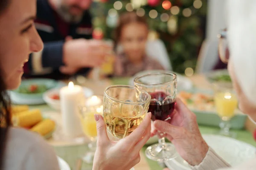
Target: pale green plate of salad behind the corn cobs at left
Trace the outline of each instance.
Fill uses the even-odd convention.
[[[21,82],[19,88],[9,91],[14,104],[39,105],[44,104],[43,94],[55,88],[58,82],[53,79],[27,79]]]

